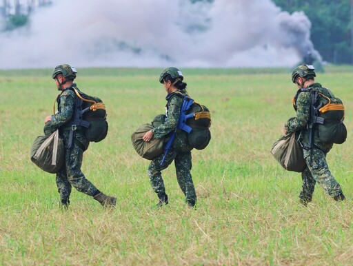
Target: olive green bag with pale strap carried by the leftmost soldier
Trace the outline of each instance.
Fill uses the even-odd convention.
[[[59,130],[47,136],[37,136],[30,149],[30,159],[43,171],[50,174],[59,172],[65,163],[65,147]]]

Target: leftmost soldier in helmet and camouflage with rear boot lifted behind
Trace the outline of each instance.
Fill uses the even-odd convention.
[[[61,206],[68,208],[70,204],[71,187],[79,192],[92,196],[99,201],[103,207],[112,207],[116,204],[117,198],[106,196],[95,187],[81,172],[83,152],[87,150],[89,141],[85,138],[83,130],[74,131],[74,139],[71,147],[68,147],[72,116],[74,115],[76,94],[70,88],[77,88],[73,83],[77,71],[70,65],[58,65],[54,68],[52,79],[55,80],[57,89],[61,91],[57,98],[58,112],[54,115],[46,116],[44,123],[50,121],[52,130],[59,128],[59,134],[63,138],[65,149],[65,165],[57,173],[57,187],[61,198]]]

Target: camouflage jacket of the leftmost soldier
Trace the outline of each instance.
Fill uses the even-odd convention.
[[[68,88],[65,88],[57,97],[58,110],[55,114],[52,115],[51,126],[55,129],[59,128],[61,136],[63,136],[65,144],[67,144],[69,139],[70,130],[63,130],[65,126],[70,125],[72,121],[72,116],[74,115],[75,105],[76,105],[76,94],[70,88],[77,88],[77,85],[74,83]],[[85,148],[88,147],[89,142],[85,139],[85,134],[81,130],[75,132],[75,139],[82,143]]]

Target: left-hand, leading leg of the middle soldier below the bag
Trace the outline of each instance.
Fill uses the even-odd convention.
[[[161,165],[163,156],[164,156],[164,152],[159,156],[157,156],[156,158],[154,158],[151,161],[150,165],[148,166],[148,176],[150,177],[150,183],[153,191],[158,194],[159,206],[163,204],[168,204],[168,195],[165,194],[165,186],[164,186],[161,170],[164,170],[170,165],[170,163],[172,163],[176,154],[173,150],[168,151],[167,156],[165,156],[165,161],[163,165]]]

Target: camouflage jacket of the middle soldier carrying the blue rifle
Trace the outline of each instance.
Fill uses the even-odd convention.
[[[183,90],[177,90],[177,92],[172,92],[165,97],[165,100],[167,100],[165,116],[167,117],[165,122],[158,127],[154,127],[152,132],[156,139],[161,139],[171,132],[176,131],[177,135],[174,139],[174,148],[177,151],[186,152],[192,150],[192,147],[188,144],[188,135],[184,131],[177,130],[181,107],[183,106],[183,96],[181,94],[188,95],[188,93]]]

